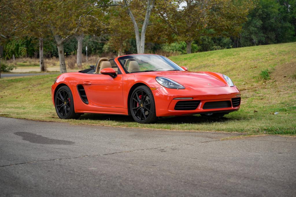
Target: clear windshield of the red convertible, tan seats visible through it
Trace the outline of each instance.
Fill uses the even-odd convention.
[[[177,64],[160,55],[128,55],[118,58],[129,73],[149,71],[183,71]]]

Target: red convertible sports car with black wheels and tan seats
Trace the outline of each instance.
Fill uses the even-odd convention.
[[[164,116],[219,118],[239,110],[241,97],[226,75],[189,72],[164,56],[136,54],[100,58],[89,69],[59,75],[52,100],[59,118],[102,113],[154,123]]]

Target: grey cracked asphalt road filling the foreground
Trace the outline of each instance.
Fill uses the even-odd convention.
[[[296,196],[295,137],[0,117],[0,196]]]

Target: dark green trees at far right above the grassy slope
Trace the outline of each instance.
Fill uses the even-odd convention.
[[[258,0],[239,36],[239,46],[295,41],[296,1]]]

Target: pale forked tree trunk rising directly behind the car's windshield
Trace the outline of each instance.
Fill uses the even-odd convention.
[[[147,0],[147,6],[146,6],[146,14],[144,17],[144,21],[142,22],[142,28],[139,29],[139,25],[141,22],[137,22],[136,18],[134,17],[132,7],[133,8],[138,8],[138,7],[144,7],[144,2],[141,0],[134,0],[133,2],[128,2],[128,0],[123,0],[124,1],[124,6],[127,9],[128,15],[131,18],[131,21],[133,23],[134,31],[135,31],[135,36],[136,36],[136,45],[137,45],[137,51],[138,53],[145,53],[145,33],[147,30],[149,18],[151,11],[154,7],[155,0]],[[135,6],[134,4],[140,4],[140,6]],[[134,13],[141,13],[141,10],[136,10]],[[141,18],[141,17],[139,17]],[[140,35],[141,34],[141,35]]]

